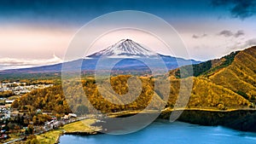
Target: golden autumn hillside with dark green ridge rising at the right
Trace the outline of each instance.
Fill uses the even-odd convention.
[[[218,94],[218,99],[231,96],[230,102],[225,101],[224,106],[231,106],[234,101],[237,102],[237,105],[240,103],[241,107],[251,105],[249,101],[255,102],[256,47],[233,52],[221,59],[202,62],[194,65],[193,69],[194,76],[196,76],[195,82],[200,81],[203,85],[201,83],[194,84],[191,101],[198,96],[201,98],[198,99],[201,101],[199,103],[203,104]],[[170,77],[179,78],[179,68],[172,70]],[[216,100],[216,98],[214,99]]]

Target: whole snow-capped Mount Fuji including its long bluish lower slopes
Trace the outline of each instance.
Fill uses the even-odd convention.
[[[161,58],[168,70],[175,69],[179,66],[184,66],[190,64],[198,64],[201,61],[197,60],[185,60],[183,58],[172,57],[170,55],[160,55],[154,53],[153,51],[146,49],[140,43],[136,43],[131,39],[122,39],[118,43],[114,43],[109,46],[107,49],[98,51],[92,55],[87,55],[86,58],[82,59],[81,71],[95,71],[97,62],[104,58],[108,62],[111,62],[113,59],[119,60],[113,67],[113,71],[148,71],[148,66],[146,66],[142,61],[137,60],[136,58],[145,58],[150,62],[151,66],[154,68],[159,68],[159,63],[156,58]],[[65,62],[65,65],[68,66],[70,70],[77,68],[81,64],[80,60],[73,60]],[[177,62],[178,61],[178,62]],[[32,68],[21,68],[21,69],[11,69],[0,71],[0,74],[4,73],[45,73],[45,72],[61,72],[60,64],[50,65],[50,66],[38,66]]]

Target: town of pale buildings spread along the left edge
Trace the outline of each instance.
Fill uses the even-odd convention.
[[[53,86],[54,84],[26,84],[25,82],[3,82],[0,83],[0,139],[9,138],[8,133],[6,133],[6,126],[12,127],[9,123],[15,118],[26,118],[26,112],[19,112],[11,107],[11,104],[15,99],[19,98],[26,93],[31,92],[35,89],[44,89]],[[38,110],[38,112],[40,112]],[[67,117],[67,118],[70,118]],[[53,118],[55,119],[55,118]],[[7,125],[9,124],[9,125]],[[52,127],[55,125],[51,124]],[[14,128],[18,129],[18,127]],[[26,130],[27,128],[24,128]],[[20,130],[20,128],[19,128]]]

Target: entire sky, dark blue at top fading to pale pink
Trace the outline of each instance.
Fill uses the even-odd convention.
[[[2,0],[0,70],[61,62],[82,26],[119,10],[139,10],[166,20],[188,49],[189,57],[178,57],[211,60],[256,45],[255,0]],[[113,43],[97,43],[90,53]]]

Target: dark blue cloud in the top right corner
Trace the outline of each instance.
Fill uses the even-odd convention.
[[[228,8],[232,17],[241,20],[256,14],[256,0],[212,0],[212,5]]]

